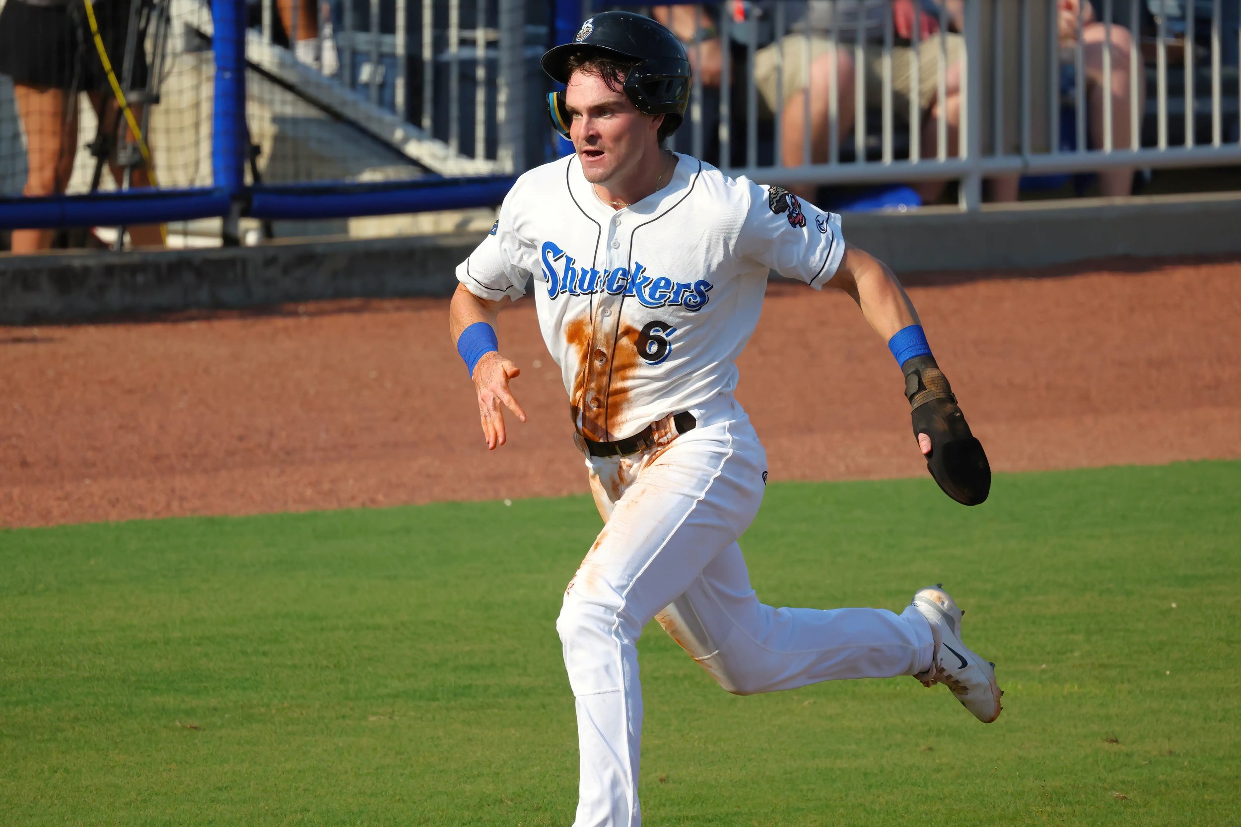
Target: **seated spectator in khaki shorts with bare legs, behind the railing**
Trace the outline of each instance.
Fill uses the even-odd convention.
[[[915,9],[921,2],[918,20],[918,47],[912,46]],[[947,123],[947,153],[957,151],[957,130],[961,123],[961,56],[964,51],[959,35],[939,31],[936,6],[930,0],[809,0],[786,5],[794,21],[789,35],[764,46],[755,55],[755,83],[768,113],[779,110],[777,93],[782,94],[781,146],[778,154],[784,166],[800,166],[805,155],[805,98],[809,95],[810,160],[828,160],[830,123],[835,117],[838,136],[844,138],[854,128],[855,79],[861,72],[865,88],[865,105],[882,105],[882,43],[886,16],[894,15],[895,45],[892,48],[892,110],[898,119],[907,120],[910,99],[917,95],[920,124],[911,124],[910,140],[918,140],[922,156],[938,150],[938,118],[941,112]],[[838,47],[833,50],[831,33],[836,32]],[[807,37],[809,33],[809,37]],[[854,43],[867,45],[865,66],[854,64]],[[805,50],[810,50],[809,76],[807,76]],[[938,94],[941,48],[946,51],[946,95]],[[783,69],[781,58],[783,56]],[[918,62],[918,88],[912,89],[912,62]],[[831,110],[833,84],[836,86],[835,113]],[[923,181],[913,185],[923,203],[939,198],[944,182]],[[803,185],[789,187],[797,195],[813,198],[814,187]]]

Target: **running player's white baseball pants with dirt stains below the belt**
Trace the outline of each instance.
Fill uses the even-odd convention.
[[[737,694],[913,674],[931,663],[931,627],[916,609],[758,601],[737,538],[762,502],[767,453],[731,396],[691,413],[699,427],[666,448],[587,456],[607,524],[556,621],[577,708],[575,827],[642,823],[637,642],[652,617]]]

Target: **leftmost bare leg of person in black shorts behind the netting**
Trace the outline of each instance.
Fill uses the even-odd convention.
[[[17,113],[26,133],[26,186],[22,195],[65,192],[77,154],[77,97],[63,89],[14,84]],[[37,253],[52,245],[55,229],[12,231],[14,253]]]

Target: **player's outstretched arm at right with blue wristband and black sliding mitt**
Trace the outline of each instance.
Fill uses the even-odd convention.
[[[896,275],[866,250],[846,244],[827,286],[853,296],[866,322],[889,343],[901,366],[913,433],[931,476],[957,502],[967,506],[983,502],[992,485],[987,454],[970,433],[948,378],[931,355],[917,310]]]

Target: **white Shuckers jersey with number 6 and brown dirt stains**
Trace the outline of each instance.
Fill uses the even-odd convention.
[[[733,391],[768,270],[820,289],[844,248],[840,216],[695,157],[613,210],[570,155],[517,179],[457,278],[482,299],[534,293],[573,425],[603,441]]]

